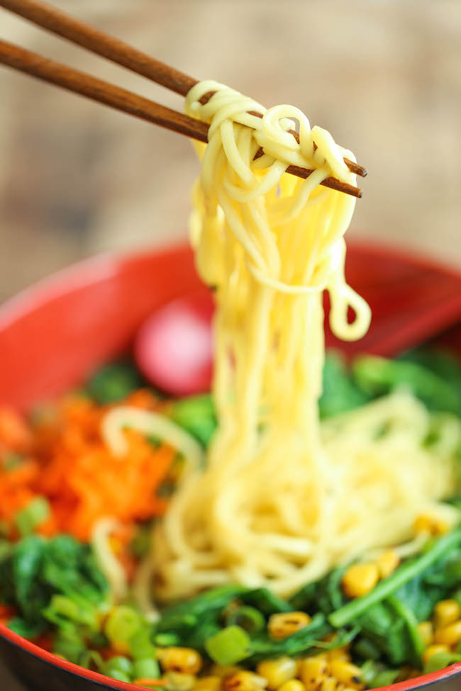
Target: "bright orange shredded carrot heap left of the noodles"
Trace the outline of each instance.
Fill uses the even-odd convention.
[[[130,405],[154,409],[155,397],[137,391]],[[11,524],[13,517],[35,495],[48,498],[52,512],[38,527],[51,536],[66,532],[88,540],[95,522],[108,515],[121,522],[133,522],[161,515],[166,502],[157,490],[174,459],[166,444],[152,446],[142,434],[127,431],[126,456],[113,456],[101,438],[101,420],[109,407],[84,398],[64,398],[55,415],[38,419],[29,428],[9,409],[0,409],[0,443],[6,451],[28,449],[30,459],[9,471],[0,466],[0,519]],[[133,532],[114,536],[127,570],[126,545]]]

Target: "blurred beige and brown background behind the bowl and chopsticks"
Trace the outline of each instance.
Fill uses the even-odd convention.
[[[197,78],[294,103],[369,169],[350,237],[461,267],[459,0],[54,0]],[[0,35],[182,99],[0,10]],[[0,300],[108,249],[185,237],[187,140],[0,67]]]

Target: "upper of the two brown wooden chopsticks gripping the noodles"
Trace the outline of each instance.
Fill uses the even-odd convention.
[[[76,43],[96,53],[96,55],[101,55],[112,62],[127,67],[132,72],[141,74],[143,77],[151,79],[152,82],[165,86],[170,91],[174,91],[181,96],[186,96],[192,86],[198,84],[197,79],[189,77],[188,74],[180,72],[179,69],[170,67],[170,65],[160,60],[155,60],[154,57],[150,57],[150,55],[137,50],[128,45],[128,43],[74,19],[74,17],[41,0],[0,0],[0,6],[52,33],[62,36],[62,38],[67,38],[72,43]],[[202,102],[206,103],[212,94],[213,91],[206,94]],[[252,114],[262,117],[261,113],[255,111],[252,111]],[[289,130],[289,132],[299,143],[298,133],[295,130]],[[257,153],[257,157],[261,155],[262,150]],[[367,175],[364,167],[354,161],[350,161],[348,158],[345,158],[344,161],[351,172],[361,177]]]

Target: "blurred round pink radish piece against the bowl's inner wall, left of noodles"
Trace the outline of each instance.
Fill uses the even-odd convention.
[[[153,313],[135,341],[135,359],[145,378],[173,395],[209,391],[213,373],[213,300],[199,291]]]

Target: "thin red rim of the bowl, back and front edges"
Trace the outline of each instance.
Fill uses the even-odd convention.
[[[460,278],[461,273],[455,268],[444,266],[443,262],[424,257],[423,254],[414,252],[413,249],[405,247],[395,247],[395,245],[387,245],[385,242],[362,242],[355,240],[349,243],[359,252],[374,252],[375,254],[382,254],[387,259],[396,259],[400,262],[406,262],[413,266],[418,266],[421,269],[428,269],[431,271],[439,271],[442,274],[456,276]],[[32,286],[23,289],[13,298],[6,300],[0,307],[0,330],[5,328],[9,322],[21,318],[31,310],[35,310],[45,301],[62,296],[69,293],[77,286],[82,284],[97,283],[102,278],[116,274],[121,265],[126,262],[132,262],[136,259],[141,259],[149,255],[161,256],[162,254],[169,254],[170,252],[182,252],[185,245],[179,242],[174,245],[162,246],[157,249],[144,249],[138,252],[121,252],[121,253],[106,253],[98,254],[95,257],[84,259],[82,262],[77,262],[71,266],[57,271],[51,276],[33,283]],[[77,675],[81,678],[88,679],[91,682],[96,682],[100,685],[105,685],[109,689],[117,689],[121,691],[142,691],[145,687],[136,686],[128,682],[118,681],[112,679],[99,672],[87,670],[79,665],[63,660],[52,653],[46,651],[44,648],[35,645],[28,639],[19,636],[6,627],[5,624],[0,623],[0,636],[9,643],[22,648],[30,655],[39,658],[40,660],[54,665],[72,675]],[[461,673],[461,663],[450,665],[443,670],[438,670],[431,674],[421,675],[409,681],[399,682],[387,687],[381,687],[377,691],[416,691],[422,689],[426,685],[431,685],[435,682],[452,678]]]

